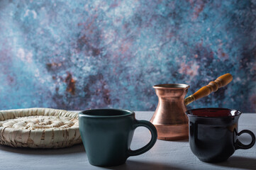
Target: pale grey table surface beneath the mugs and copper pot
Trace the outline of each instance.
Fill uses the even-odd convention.
[[[153,112],[138,111],[138,120],[150,120]],[[239,131],[248,129],[256,134],[256,113],[243,113],[239,120]],[[250,142],[249,135],[239,139]],[[131,149],[143,147],[150,140],[146,128],[137,128]],[[251,149],[238,149],[226,161],[210,164],[199,161],[189,148],[188,140],[157,140],[145,154],[129,157],[120,166],[98,167],[89,164],[82,144],[62,149],[13,148],[0,145],[0,169],[256,169],[256,145]]]

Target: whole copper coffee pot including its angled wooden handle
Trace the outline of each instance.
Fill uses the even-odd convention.
[[[159,140],[187,139],[189,137],[189,121],[185,114],[186,106],[226,86],[232,79],[231,74],[224,74],[187,98],[185,98],[189,89],[187,84],[158,84],[153,86],[158,96],[158,105],[150,122],[157,128],[157,138]]]

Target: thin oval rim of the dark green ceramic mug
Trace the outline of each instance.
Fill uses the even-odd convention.
[[[123,114],[120,115],[96,115],[96,114],[91,114],[95,113],[95,111],[115,111],[115,112],[120,112]],[[90,114],[89,114],[90,113]],[[118,108],[96,108],[96,109],[89,109],[85,111],[79,112],[79,116],[81,117],[88,117],[88,118],[123,118],[127,117],[130,115],[134,115],[135,113],[133,111],[129,111],[126,109],[118,109]]]

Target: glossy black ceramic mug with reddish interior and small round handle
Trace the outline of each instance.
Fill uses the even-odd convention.
[[[228,108],[198,108],[186,113],[189,117],[189,145],[202,162],[223,162],[236,149],[249,149],[255,144],[253,132],[238,132],[240,111]],[[238,140],[238,136],[243,133],[252,137],[249,145]]]

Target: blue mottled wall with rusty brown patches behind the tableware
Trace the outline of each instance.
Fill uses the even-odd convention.
[[[193,94],[188,108],[255,112],[256,1],[0,1],[0,109],[155,111],[152,86]]]

